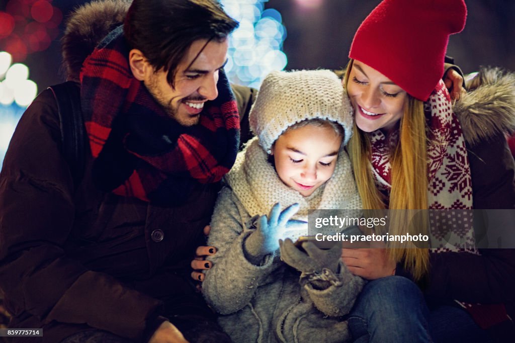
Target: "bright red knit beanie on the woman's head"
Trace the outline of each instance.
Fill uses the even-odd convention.
[[[384,0],[357,29],[349,57],[425,101],[443,76],[449,35],[466,17],[464,0]]]

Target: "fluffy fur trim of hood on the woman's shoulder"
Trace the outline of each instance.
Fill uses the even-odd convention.
[[[465,140],[474,146],[501,133],[515,131],[515,74],[482,68],[467,81],[467,94],[454,105]]]

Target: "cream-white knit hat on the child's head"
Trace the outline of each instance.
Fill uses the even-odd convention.
[[[270,153],[272,144],[288,127],[315,118],[340,124],[345,145],[352,134],[352,113],[341,81],[332,71],[272,72],[263,80],[249,121],[261,146]]]

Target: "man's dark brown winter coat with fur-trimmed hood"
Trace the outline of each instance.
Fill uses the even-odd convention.
[[[126,8],[88,5],[68,25],[68,79],[76,78],[85,52],[101,38],[80,35],[97,32],[96,25],[109,31]],[[255,94],[233,89],[246,124]],[[249,136],[244,131],[243,141]],[[12,137],[0,173],[0,288],[13,316],[10,327],[43,328],[43,341],[52,343],[88,328],[141,340],[156,329],[151,326],[159,315],[212,317],[191,284],[190,262],[205,244],[202,230],[220,184],[197,184],[175,207],[103,193],[92,183],[85,146],[84,177],[74,184],[48,90],[33,101]]]

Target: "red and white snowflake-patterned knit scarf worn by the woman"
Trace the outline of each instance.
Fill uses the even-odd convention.
[[[439,251],[456,251],[455,247],[473,248],[472,179],[461,126],[452,111],[451,98],[440,81],[424,103],[429,143],[427,147],[427,200],[431,233]],[[370,134],[375,182],[382,190],[391,189],[390,149],[398,143],[399,132],[388,137],[381,130]],[[456,211],[452,211],[456,210]],[[446,218],[454,221],[450,224]],[[444,220],[445,219],[445,220]],[[452,234],[451,234],[452,232]],[[468,249],[467,249],[468,250]]]

